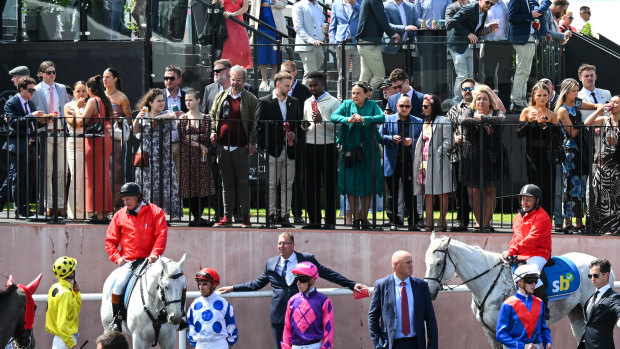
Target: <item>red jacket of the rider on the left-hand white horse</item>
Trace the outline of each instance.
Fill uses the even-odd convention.
[[[144,204],[138,216],[134,217],[127,214],[127,207],[123,207],[112,217],[105,237],[105,249],[114,263],[121,257],[133,261],[150,255],[161,256],[167,239],[168,224],[164,210],[153,204]]]

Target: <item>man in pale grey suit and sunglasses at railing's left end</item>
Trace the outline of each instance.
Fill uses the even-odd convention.
[[[67,100],[67,89],[65,85],[55,82],[56,65],[52,61],[44,61],[39,66],[39,80],[35,86],[35,93],[32,96],[37,110],[43,110],[45,114],[56,114],[62,116]],[[54,130],[54,123],[56,130]],[[51,118],[47,127],[39,128],[39,213],[43,214],[43,209],[47,207],[47,216],[66,216],[65,207],[65,182],[66,169],[68,168],[65,160],[65,121],[62,118]],[[56,142],[56,146],[54,146]],[[56,173],[54,174],[54,162],[56,162]],[[52,183],[53,176],[56,176],[56,197],[54,198]],[[58,212],[54,212],[54,199],[58,207]],[[43,204],[45,203],[45,205]]]

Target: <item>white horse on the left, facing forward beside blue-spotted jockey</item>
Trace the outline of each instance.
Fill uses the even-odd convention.
[[[184,263],[185,255],[178,263],[162,256],[136,280],[127,304],[127,320],[123,321],[123,331],[131,335],[134,349],[147,349],[157,342],[162,349],[174,348],[175,334],[185,314]],[[112,272],[103,285],[101,322],[105,331],[113,321],[111,294],[115,274]]]

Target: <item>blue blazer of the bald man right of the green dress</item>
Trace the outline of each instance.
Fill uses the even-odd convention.
[[[383,144],[383,175],[390,177],[394,174],[396,166],[396,156],[398,155],[398,144],[392,142],[392,136],[398,135],[398,114],[386,115],[385,123],[379,128],[381,143]],[[409,146],[409,152],[413,159],[415,145],[418,143],[420,133],[422,133],[423,120],[417,116],[409,115],[409,137],[413,138],[413,144]]]

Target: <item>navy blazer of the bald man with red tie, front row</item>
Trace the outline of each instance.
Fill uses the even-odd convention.
[[[413,330],[418,342],[417,348],[437,349],[439,342],[437,321],[428,284],[413,276],[409,277],[409,280],[413,293]],[[368,330],[376,349],[393,347],[396,335],[396,314],[394,274],[390,274],[375,283],[368,310]]]

